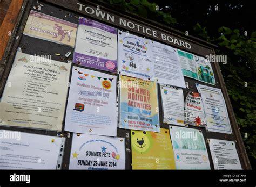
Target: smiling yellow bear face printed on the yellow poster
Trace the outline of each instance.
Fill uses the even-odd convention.
[[[146,152],[150,148],[150,139],[146,135],[146,131],[131,131],[132,146],[140,153]]]

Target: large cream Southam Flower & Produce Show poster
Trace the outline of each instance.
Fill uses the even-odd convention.
[[[62,130],[70,64],[17,52],[0,106],[0,125]]]

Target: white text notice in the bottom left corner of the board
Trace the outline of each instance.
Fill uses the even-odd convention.
[[[56,136],[0,130],[0,169],[57,169],[64,143]]]

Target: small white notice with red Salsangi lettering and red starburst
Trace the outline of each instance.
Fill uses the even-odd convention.
[[[200,93],[189,92],[185,101],[185,124],[207,127]]]

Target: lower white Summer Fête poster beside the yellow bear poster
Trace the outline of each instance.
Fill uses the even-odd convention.
[[[69,169],[125,169],[125,139],[73,134]]]

